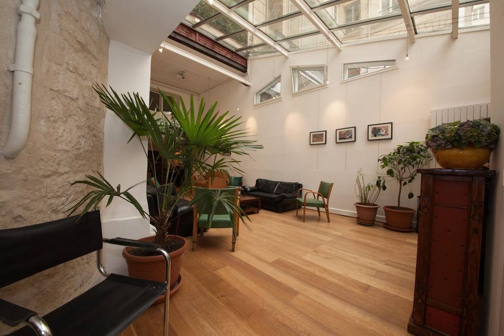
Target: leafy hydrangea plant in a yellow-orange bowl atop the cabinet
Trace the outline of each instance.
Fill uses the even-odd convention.
[[[484,119],[455,121],[429,129],[425,142],[441,167],[478,169],[490,159],[499,132],[497,125]]]

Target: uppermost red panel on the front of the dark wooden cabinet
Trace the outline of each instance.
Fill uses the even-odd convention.
[[[434,204],[469,208],[469,182],[437,180],[434,183]]]

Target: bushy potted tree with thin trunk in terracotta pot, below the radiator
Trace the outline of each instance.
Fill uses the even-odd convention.
[[[413,198],[410,183],[415,180],[416,170],[422,168],[432,160],[427,146],[424,143],[412,141],[404,145],[398,145],[392,152],[378,159],[382,169],[387,169],[385,178],[396,180],[399,183],[397,206],[383,207],[385,211],[384,225],[387,229],[401,232],[411,232],[411,223],[415,210],[401,207],[402,188],[408,186],[410,192],[408,198]]]

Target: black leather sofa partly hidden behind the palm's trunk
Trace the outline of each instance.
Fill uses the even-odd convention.
[[[162,194],[159,190],[159,199],[161,200]],[[175,189],[173,193],[175,194]],[[149,206],[149,214],[151,216],[158,215],[158,197],[156,197],[156,188],[153,186],[147,186],[147,205]],[[189,201],[185,199],[180,199],[177,202],[177,206],[174,209],[172,216],[178,216],[180,218],[175,219],[172,225],[168,228],[168,234],[178,235],[181,237],[188,237],[193,235],[193,206],[189,205]]]

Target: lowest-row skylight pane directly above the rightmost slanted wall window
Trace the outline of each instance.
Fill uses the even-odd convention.
[[[333,32],[342,43],[349,43],[358,40],[386,38],[406,34],[406,26],[404,25],[404,20],[401,18],[363,26],[342,28]]]

